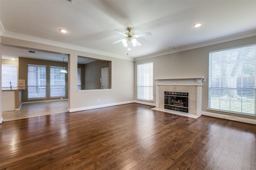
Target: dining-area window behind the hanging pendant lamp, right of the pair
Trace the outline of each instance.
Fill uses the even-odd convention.
[[[60,73],[62,67],[50,66],[50,97],[66,95],[65,74]]]

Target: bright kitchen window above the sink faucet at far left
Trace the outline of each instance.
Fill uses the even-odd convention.
[[[17,70],[16,65],[2,64],[2,88],[17,87]]]

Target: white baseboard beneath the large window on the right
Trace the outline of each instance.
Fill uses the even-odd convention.
[[[228,119],[228,120],[233,120],[233,121],[240,121],[240,122],[256,125],[256,118],[240,117],[237,115],[225,115],[225,114],[221,114],[221,113],[212,113],[212,112],[208,112],[208,111],[202,111],[202,115],[217,117],[217,118],[221,118],[221,119]]]

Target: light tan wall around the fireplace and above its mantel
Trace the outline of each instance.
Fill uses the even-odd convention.
[[[159,57],[142,59],[134,63],[134,96],[137,96],[137,64],[153,62],[154,79],[205,77],[202,86],[202,111],[208,108],[209,52],[219,49],[256,43],[256,36],[238,39],[197,49],[181,51]],[[155,82],[154,82],[155,83]],[[154,86],[154,94],[155,86]],[[154,103],[156,99],[154,98]]]

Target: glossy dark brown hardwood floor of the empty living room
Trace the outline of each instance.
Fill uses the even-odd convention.
[[[256,125],[125,104],[6,121],[3,170],[255,170]]]

